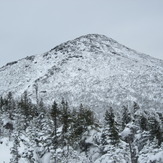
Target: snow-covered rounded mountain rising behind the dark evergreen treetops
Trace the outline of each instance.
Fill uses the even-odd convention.
[[[139,53],[104,35],[88,34],[50,51],[0,68],[0,95],[24,91],[36,101],[65,98],[70,105],[94,108],[136,101],[160,109],[163,61]]]

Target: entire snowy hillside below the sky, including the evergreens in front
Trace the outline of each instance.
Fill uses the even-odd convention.
[[[162,163],[163,61],[89,34],[0,68],[0,162]]]

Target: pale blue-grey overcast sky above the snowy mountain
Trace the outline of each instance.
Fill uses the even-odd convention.
[[[163,0],[0,0],[0,67],[89,33],[163,59]]]

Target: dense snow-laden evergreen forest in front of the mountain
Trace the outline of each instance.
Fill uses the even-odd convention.
[[[27,92],[8,93],[0,98],[0,146],[11,144],[8,163],[163,163],[163,112],[156,110],[133,101],[97,119],[84,104],[33,104]]]

